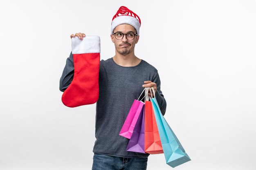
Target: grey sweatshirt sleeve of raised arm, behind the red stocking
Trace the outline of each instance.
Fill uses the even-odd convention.
[[[60,79],[60,91],[64,92],[67,87],[71,84],[74,77],[74,61],[72,52],[70,56],[67,58],[66,65],[63,69],[63,73]]]

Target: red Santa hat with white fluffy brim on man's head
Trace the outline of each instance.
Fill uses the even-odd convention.
[[[124,6],[121,6],[112,18],[111,34],[113,33],[115,27],[120,24],[129,24],[133,26],[137,31],[137,35],[139,35],[139,27],[141,25],[139,16]]]

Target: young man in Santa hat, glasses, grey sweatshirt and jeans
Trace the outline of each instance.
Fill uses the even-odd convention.
[[[146,170],[149,154],[126,151],[129,139],[121,137],[119,132],[134,99],[145,87],[154,88],[162,114],[166,110],[157,69],[135,56],[139,27],[139,17],[126,7],[120,7],[112,20],[110,36],[115,44],[115,56],[100,62],[92,170]],[[75,36],[83,40],[85,34],[70,35]],[[70,85],[73,76],[70,53],[60,80],[61,91]]]

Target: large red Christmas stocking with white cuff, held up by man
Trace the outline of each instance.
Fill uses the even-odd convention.
[[[62,95],[68,107],[94,104],[99,98],[100,38],[86,35],[72,38],[74,78]]]

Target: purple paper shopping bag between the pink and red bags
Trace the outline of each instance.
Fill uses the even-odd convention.
[[[141,109],[137,123],[133,129],[132,136],[127,146],[127,151],[145,153],[145,139],[144,139],[144,106]]]

